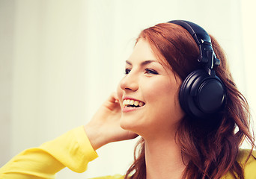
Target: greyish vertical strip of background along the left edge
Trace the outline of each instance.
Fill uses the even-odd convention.
[[[10,157],[14,1],[0,3],[0,166]]]

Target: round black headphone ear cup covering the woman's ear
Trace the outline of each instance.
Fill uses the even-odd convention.
[[[191,72],[180,86],[180,106],[189,116],[204,119],[217,113],[225,101],[225,87],[204,69]]]

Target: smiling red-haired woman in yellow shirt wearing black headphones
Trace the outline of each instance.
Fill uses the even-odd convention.
[[[249,107],[213,37],[186,21],[147,28],[125,74],[91,122],[13,157],[0,178],[54,178],[66,166],[84,172],[97,148],[138,135],[127,174],[105,178],[256,178]],[[240,149],[245,139],[251,150]]]

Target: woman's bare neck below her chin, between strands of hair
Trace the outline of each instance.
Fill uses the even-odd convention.
[[[186,167],[174,137],[166,135],[159,139],[145,139],[145,161],[147,179],[180,179]]]

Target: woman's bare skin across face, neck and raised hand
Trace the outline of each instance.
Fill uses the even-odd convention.
[[[180,79],[157,60],[145,40],[135,45],[125,71],[117,93],[85,125],[91,145],[96,150],[140,135],[145,141],[147,179],[181,178],[185,165],[174,140],[184,116],[178,101]],[[126,108],[124,98],[143,101],[144,106]]]

